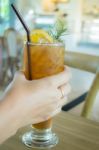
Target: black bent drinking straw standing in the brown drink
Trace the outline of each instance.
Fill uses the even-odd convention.
[[[31,58],[30,58],[30,47],[29,47],[29,43],[30,43],[30,30],[28,28],[28,26],[26,25],[23,17],[21,16],[21,14],[19,13],[19,11],[16,9],[16,7],[14,6],[14,4],[11,4],[11,7],[13,8],[16,16],[18,17],[18,19],[20,20],[21,24],[23,25],[26,34],[27,34],[27,57],[28,57],[28,72],[29,72],[29,79],[32,79],[31,76]]]

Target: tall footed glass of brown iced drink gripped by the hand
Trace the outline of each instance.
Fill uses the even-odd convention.
[[[64,45],[62,43],[28,44],[30,48],[32,80],[51,76],[64,70]],[[23,58],[24,73],[26,78],[29,79],[27,45],[24,48]],[[58,143],[58,137],[55,133],[52,133],[51,128],[52,118],[33,124],[32,131],[24,134],[22,141],[28,147],[53,147]]]

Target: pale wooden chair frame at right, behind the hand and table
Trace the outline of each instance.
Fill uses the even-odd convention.
[[[90,118],[94,100],[99,90],[99,56],[67,51],[65,55],[65,64],[73,68],[96,74],[93,84],[85,99],[85,105],[81,114],[83,117]]]

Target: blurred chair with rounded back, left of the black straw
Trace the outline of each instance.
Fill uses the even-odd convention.
[[[20,68],[20,52],[22,48],[22,40],[20,34],[13,28],[9,28],[4,32],[4,44],[7,54],[7,76],[12,80],[16,70]]]

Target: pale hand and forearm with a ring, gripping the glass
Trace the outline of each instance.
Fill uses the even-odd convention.
[[[33,81],[26,80],[21,72],[16,73],[0,101],[0,144],[19,128],[58,114],[70,92],[70,77],[68,67],[58,75]]]

